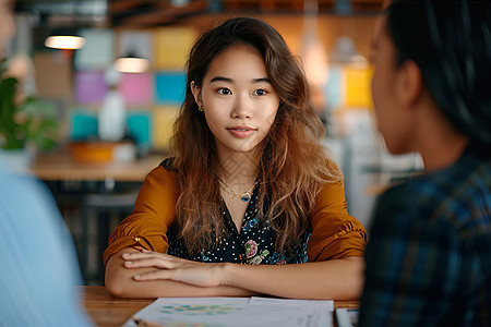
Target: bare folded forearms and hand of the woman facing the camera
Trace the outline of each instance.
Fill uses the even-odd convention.
[[[124,249],[109,259],[106,287],[122,298],[358,299],[363,266],[361,257],[298,265],[208,264]]]

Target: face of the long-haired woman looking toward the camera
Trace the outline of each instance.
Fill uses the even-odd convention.
[[[262,57],[246,46],[230,47],[215,57],[201,88],[191,83],[191,89],[221,158],[254,152],[279,106]]]

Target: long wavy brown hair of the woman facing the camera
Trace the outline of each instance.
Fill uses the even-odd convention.
[[[283,37],[267,23],[252,17],[227,20],[205,32],[192,47],[188,62],[185,100],[171,140],[173,169],[180,195],[177,202],[179,237],[188,251],[211,250],[225,237],[220,209],[220,162],[214,135],[194,101],[190,84],[202,86],[213,59],[232,46],[255,49],[279,96],[270,133],[260,147],[259,215],[277,233],[278,251],[298,244],[309,227],[315,196],[323,184],[343,175],[321,140],[324,126],[310,100],[303,70]]]

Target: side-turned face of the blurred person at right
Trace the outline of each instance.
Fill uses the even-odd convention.
[[[375,108],[376,123],[387,149],[392,154],[410,152],[412,131],[408,116],[402,101],[404,88],[402,68],[396,64],[396,48],[386,29],[386,19],[382,19],[375,29],[372,41],[371,61],[374,65],[372,76],[372,98]],[[403,90],[403,92],[402,92]],[[409,138],[408,138],[409,137]]]

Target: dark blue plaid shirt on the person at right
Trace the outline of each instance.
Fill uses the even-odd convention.
[[[489,150],[489,148],[487,149]],[[366,251],[359,326],[491,326],[491,160],[382,195]]]

